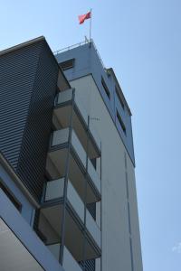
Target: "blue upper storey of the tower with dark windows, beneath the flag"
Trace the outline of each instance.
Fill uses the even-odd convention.
[[[56,51],[55,57],[70,82],[87,75],[92,76],[122,142],[127,148],[131,161],[135,165],[129,105],[114,70],[104,67],[94,42],[82,42]]]

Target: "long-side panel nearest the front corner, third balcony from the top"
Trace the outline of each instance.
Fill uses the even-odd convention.
[[[84,220],[84,204],[81,201],[80,196],[73,188],[71,182],[68,182],[68,191],[67,191],[67,198],[71,203],[72,208],[76,211],[76,213],[81,218],[82,222]]]

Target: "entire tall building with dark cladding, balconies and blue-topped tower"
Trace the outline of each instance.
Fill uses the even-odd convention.
[[[93,42],[1,51],[0,133],[2,271],[142,270],[131,112]]]

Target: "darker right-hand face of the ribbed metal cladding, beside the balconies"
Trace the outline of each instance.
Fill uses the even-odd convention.
[[[40,200],[52,126],[58,66],[45,44],[40,54],[17,173]]]

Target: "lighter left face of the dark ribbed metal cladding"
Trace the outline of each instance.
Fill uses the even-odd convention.
[[[0,58],[0,150],[14,169],[18,163],[42,44],[30,47]]]

